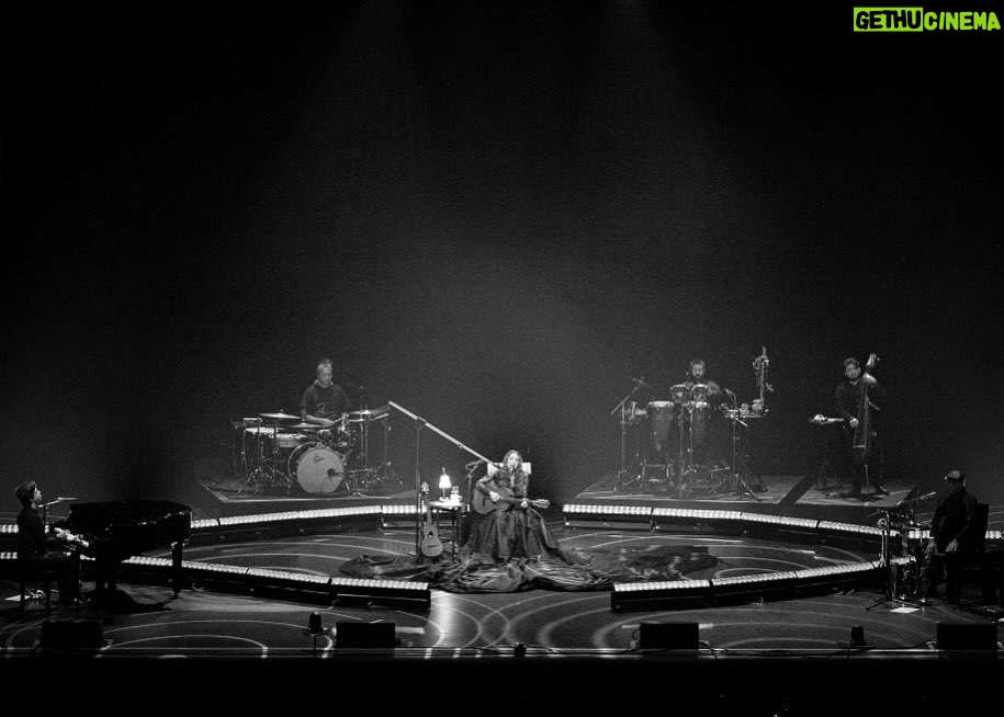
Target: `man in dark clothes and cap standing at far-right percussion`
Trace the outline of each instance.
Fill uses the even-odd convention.
[[[937,587],[945,578],[945,600],[959,602],[962,596],[962,581],[959,574],[959,557],[971,553],[979,537],[972,522],[979,501],[966,490],[966,474],[952,470],[945,476],[947,490],[938,501],[930,520],[930,537],[927,540],[927,594],[935,598]],[[944,556],[944,557],[943,557]]]

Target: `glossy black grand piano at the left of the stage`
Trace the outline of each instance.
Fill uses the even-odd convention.
[[[113,598],[123,560],[167,547],[171,548],[171,587],[176,596],[181,591],[181,550],[192,527],[188,505],[167,500],[75,503],[69,516],[54,525],[87,540],[81,553],[94,559],[99,603]]]

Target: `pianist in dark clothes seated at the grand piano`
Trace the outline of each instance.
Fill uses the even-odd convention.
[[[42,491],[34,480],[18,486],[14,496],[21,501],[18,513],[18,560],[29,569],[52,570],[59,587],[59,602],[74,605],[80,599],[80,564],[70,551],[76,536],[57,530],[46,533],[37,507]]]

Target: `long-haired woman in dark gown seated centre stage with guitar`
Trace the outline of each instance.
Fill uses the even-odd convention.
[[[497,473],[488,471],[474,490],[490,510],[473,526],[464,550],[471,557],[504,564],[509,560],[567,558],[543,516],[533,510],[528,496],[530,477],[522,456],[509,451]]]

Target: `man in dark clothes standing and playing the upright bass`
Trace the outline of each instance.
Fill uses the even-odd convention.
[[[871,449],[859,460],[855,456],[855,434],[858,429],[865,398],[865,387],[868,387],[869,424],[871,426]],[[861,362],[850,356],[844,360],[844,380],[836,387],[836,410],[844,419],[844,437],[846,455],[850,462],[850,494],[861,496],[861,486],[865,482],[875,485],[877,496],[888,496],[889,491],[882,486],[882,445],[878,431],[880,412],[885,406],[885,389],[869,373],[861,374]]]

